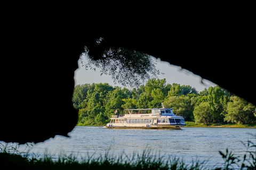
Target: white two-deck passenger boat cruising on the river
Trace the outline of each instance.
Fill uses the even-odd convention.
[[[125,109],[123,115],[113,115],[106,128],[110,129],[180,129],[184,118],[173,114],[172,108]],[[150,112],[151,111],[151,112]]]

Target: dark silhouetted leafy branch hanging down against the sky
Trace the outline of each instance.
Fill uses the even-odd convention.
[[[98,46],[103,38],[98,39],[95,46]],[[103,51],[97,60],[88,55],[89,50],[84,48],[80,61],[85,69],[100,69],[100,73],[111,75],[114,83],[123,86],[139,87],[148,79],[157,78],[161,74],[156,70],[156,62],[153,57],[127,48],[109,48]],[[163,73],[162,73],[163,74]]]

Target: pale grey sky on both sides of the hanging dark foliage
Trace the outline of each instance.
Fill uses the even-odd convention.
[[[203,79],[203,83],[201,83],[202,78],[199,75],[196,75],[186,69],[181,69],[180,66],[171,65],[168,62],[163,62],[160,58],[154,58],[154,60],[158,61],[156,65],[156,69],[160,72],[164,73],[163,75],[158,75],[158,79],[166,79],[166,83],[178,83],[181,86],[183,84],[190,85],[191,87],[195,87],[196,90],[203,91],[204,88],[214,87],[217,84],[213,82]],[[121,86],[121,84],[114,84],[110,75],[100,75],[100,69],[96,68],[96,71],[93,70],[85,70],[82,64],[78,60],[78,69],[75,71],[75,86],[78,84],[85,83],[109,83],[110,86]]]

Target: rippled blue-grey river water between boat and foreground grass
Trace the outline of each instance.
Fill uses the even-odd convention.
[[[242,142],[255,142],[256,129],[250,128],[182,128],[182,130],[131,130],[106,129],[102,126],[76,126],[69,138],[55,138],[34,144],[33,147],[19,146],[20,151],[34,155],[77,155],[99,157],[119,156],[124,152],[142,154],[146,149],[151,155],[177,157],[185,163],[199,160],[209,167],[223,163],[219,151],[228,148],[235,156],[243,156],[246,147]]]

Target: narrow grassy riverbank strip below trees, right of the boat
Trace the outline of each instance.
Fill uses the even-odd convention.
[[[256,128],[256,124],[220,124],[220,123],[209,123],[208,126],[204,123],[185,122],[187,126],[185,128]]]

